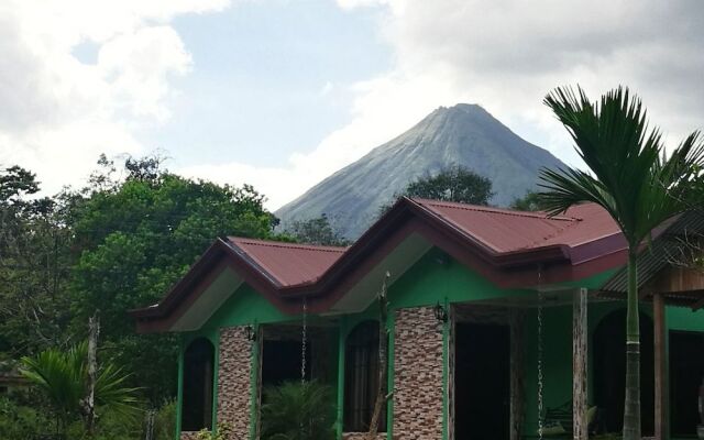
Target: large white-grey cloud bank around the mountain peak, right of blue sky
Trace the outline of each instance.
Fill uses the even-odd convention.
[[[250,182],[277,208],[438,106],[475,102],[527,140],[579,165],[542,105],[561,85],[593,99],[618,85],[637,91],[670,144],[704,125],[704,8],[698,0],[338,0],[375,7],[395,52],[392,72],[358,84],[351,122],[283,168],[201,168]],[[231,172],[229,172],[231,170]]]

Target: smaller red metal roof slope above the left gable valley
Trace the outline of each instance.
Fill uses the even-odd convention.
[[[228,237],[233,248],[273,277],[279,286],[314,283],[346,250]],[[235,251],[237,251],[235,249]]]

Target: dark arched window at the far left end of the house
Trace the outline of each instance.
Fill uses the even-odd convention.
[[[182,431],[212,429],[212,372],[215,348],[205,338],[188,344],[184,353]]]

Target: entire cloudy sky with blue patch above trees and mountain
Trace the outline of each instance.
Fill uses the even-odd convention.
[[[701,0],[2,0],[0,167],[52,194],[158,152],[276,209],[458,102],[583,166],[544,95],[626,85],[674,146],[702,47]]]

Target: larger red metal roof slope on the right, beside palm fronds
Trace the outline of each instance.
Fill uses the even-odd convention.
[[[413,199],[422,208],[477,240],[496,253],[549,245],[579,246],[620,234],[608,212],[594,204],[580,205],[562,216]]]

